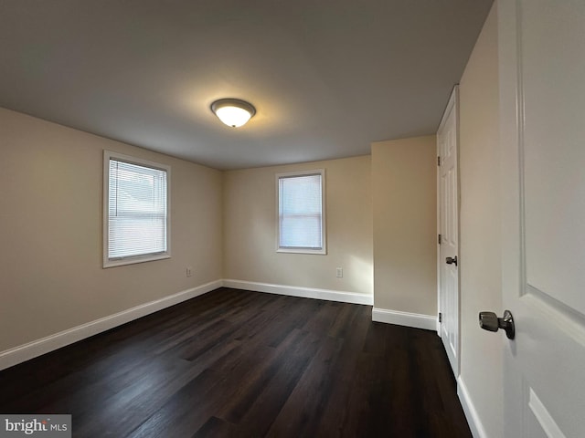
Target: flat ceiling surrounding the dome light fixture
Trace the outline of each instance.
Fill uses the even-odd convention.
[[[491,4],[0,0],[0,106],[217,169],[363,155],[437,130]]]

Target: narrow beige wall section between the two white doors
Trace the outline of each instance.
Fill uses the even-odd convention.
[[[479,328],[501,298],[497,11],[494,5],[460,84],[461,379],[485,436],[503,436],[502,335]]]

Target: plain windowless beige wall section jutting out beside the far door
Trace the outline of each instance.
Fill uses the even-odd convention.
[[[374,307],[437,314],[436,138],[372,143]]]

